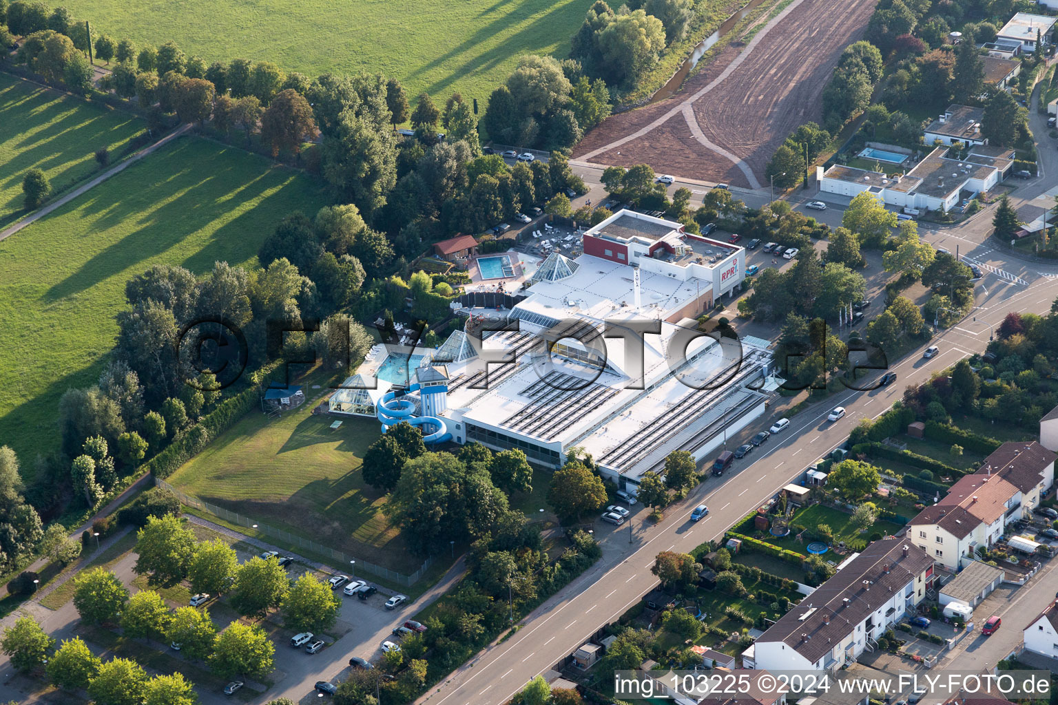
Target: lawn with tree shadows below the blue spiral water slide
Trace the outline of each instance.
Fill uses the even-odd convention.
[[[167,481],[207,502],[357,558],[412,573],[412,556],[382,513],[385,495],[361,464],[379,438],[373,419],[313,415],[310,402],[280,419],[251,411]]]

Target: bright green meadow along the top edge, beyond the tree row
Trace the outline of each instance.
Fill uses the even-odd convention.
[[[70,0],[97,33],[176,41],[207,61],[274,61],[285,71],[382,73],[414,98],[459,91],[485,108],[523,54],[564,58],[592,0]]]

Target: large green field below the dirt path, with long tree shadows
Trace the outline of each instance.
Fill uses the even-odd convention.
[[[299,171],[181,137],[0,241],[0,443],[23,475],[59,445],[62,392],[98,377],[129,278],[159,263],[256,267],[281,218],[325,203],[322,183]]]

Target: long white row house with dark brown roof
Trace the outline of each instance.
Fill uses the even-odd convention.
[[[930,554],[904,539],[875,541],[756,639],[752,667],[835,672],[873,650],[932,583]]]

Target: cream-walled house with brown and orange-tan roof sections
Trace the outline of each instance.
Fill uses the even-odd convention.
[[[991,546],[1022,516],[1021,490],[998,475],[967,475],[909,522],[908,538],[955,572]]]

